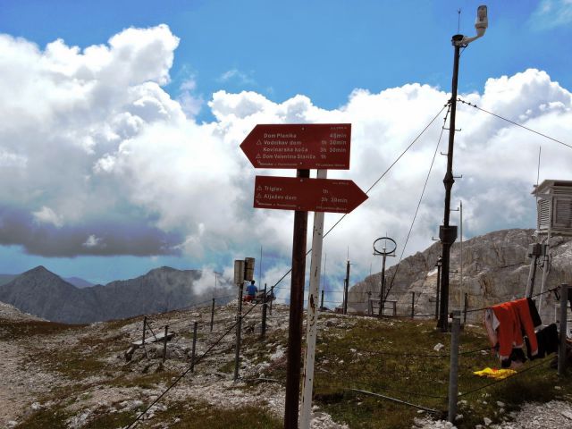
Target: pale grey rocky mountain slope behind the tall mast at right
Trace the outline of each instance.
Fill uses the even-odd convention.
[[[451,248],[449,309],[463,309],[467,293],[468,307],[487,307],[510,299],[522,298],[526,291],[530,259],[526,257],[528,245],[534,242],[534,230],[493,231],[463,242],[463,282],[460,278],[460,243]],[[437,269],[435,264],[441,255],[441,244],[435,243],[423,252],[417,252],[401,261],[399,269],[386,270],[386,288],[395,275],[388,299],[398,301],[398,313],[411,312],[411,292],[415,292],[416,315],[435,313]],[[572,284],[572,238],[558,237],[550,242],[551,268],[545,290],[562,282]],[[397,269],[397,274],[396,274]],[[543,271],[536,271],[534,293],[540,292]],[[349,293],[349,307],[366,311],[366,292],[372,298],[379,297],[381,273],[358,282]],[[352,293],[353,292],[353,293]],[[352,300],[353,299],[353,300]],[[536,299],[540,304],[540,299]],[[558,305],[553,294],[543,295],[541,315],[544,322],[554,319]],[[482,312],[468,313],[468,322],[482,319]]]

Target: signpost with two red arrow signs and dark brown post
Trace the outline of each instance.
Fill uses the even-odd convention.
[[[269,124],[257,125],[240,145],[256,168],[297,170],[295,178],[257,176],[254,196],[255,207],[295,211],[285,429],[298,428],[307,212],[349,213],[367,199],[366,194],[353,181],[310,179],[309,171],[349,170],[350,138],[349,123]],[[322,232],[318,235],[321,237],[321,234]],[[318,260],[317,266],[320,265]]]

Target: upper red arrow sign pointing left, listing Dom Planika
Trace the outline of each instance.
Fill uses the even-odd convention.
[[[257,125],[240,148],[256,168],[349,170],[350,123]]]

